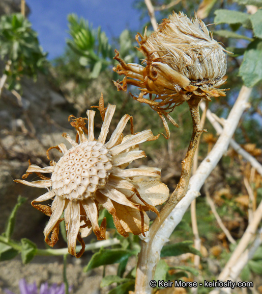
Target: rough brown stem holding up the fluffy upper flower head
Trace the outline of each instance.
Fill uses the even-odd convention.
[[[193,121],[193,133],[187,150],[187,154],[185,156],[185,159],[182,161],[181,178],[176,190],[174,190],[168,202],[160,212],[160,222],[158,221],[158,219],[155,219],[147,236],[144,240],[142,240],[141,251],[138,255],[135,294],[150,294],[152,292],[153,288],[150,287],[149,283],[154,278],[155,268],[160,259],[160,251],[153,252],[152,250],[154,237],[166,217],[170,214],[173,208],[176,207],[180,200],[183,199],[188,190],[188,183],[191,176],[193,158],[202,133],[202,129],[200,128],[199,115],[200,100],[201,98],[196,96],[192,97],[187,102]]]

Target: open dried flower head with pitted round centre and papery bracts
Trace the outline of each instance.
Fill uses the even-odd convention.
[[[88,110],[88,128],[85,127],[87,118],[74,118],[71,122],[77,131],[76,141],[68,134],[63,134],[72,148],[67,150],[64,143],[53,147],[63,153],[60,160],[51,161],[50,166],[44,168],[30,165],[23,177],[36,173],[42,180],[16,180],[27,186],[48,189],[47,193],[32,202],[35,208],[50,216],[44,229],[45,241],[54,246],[58,240],[59,224],[64,219],[68,251],[76,257],[82,255],[82,238],[88,236],[92,229],[99,240],[105,239],[106,218],[100,226],[98,224],[101,208],[107,209],[112,215],[121,235],[126,237],[129,232],[144,234],[149,229],[149,217],[145,211],[152,210],[159,216],[155,206],[165,202],[169,196],[167,186],[159,181],[159,168],[124,169],[133,160],[145,157],[144,151],[138,149],[138,144],[154,138],[151,130],[124,137],[122,133],[128,120],[131,120],[132,126],[132,117],[126,114],[106,142],[115,105],[108,104],[105,109],[101,95],[99,110],[104,121],[97,140],[94,136],[95,111]],[[51,178],[43,176],[43,173],[52,173]],[[157,180],[136,181],[139,176]],[[51,207],[36,204],[49,199],[53,199]],[[61,218],[63,211],[64,218]],[[82,245],[79,253],[75,251],[76,240]]]

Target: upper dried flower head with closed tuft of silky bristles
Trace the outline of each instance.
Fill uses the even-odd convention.
[[[138,33],[136,40],[146,65],[126,64],[115,51],[114,59],[120,64],[114,71],[125,78],[114,84],[125,91],[127,84],[139,87],[141,92],[134,99],[149,104],[163,122],[165,116],[177,126],[168,113],[194,96],[225,96],[217,87],[224,83],[226,56],[202,20],[173,13],[149,37],[145,31],[143,36]],[[149,99],[144,98],[146,94]],[[164,126],[168,137],[165,122]]]

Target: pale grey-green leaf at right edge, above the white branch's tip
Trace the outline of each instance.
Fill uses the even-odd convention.
[[[262,80],[262,40],[257,39],[248,45],[239,75],[247,87],[253,87]]]

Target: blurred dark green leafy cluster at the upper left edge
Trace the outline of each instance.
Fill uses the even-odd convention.
[[[0,18],[0,56],[11,66],[5,71],[9,89],[19,89],[22,76],[36,79],[37,71],[46,72],[46,53],[42,52],[37,33],[21,14]]]

